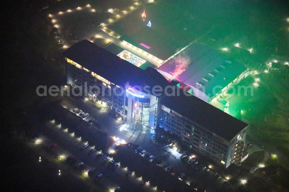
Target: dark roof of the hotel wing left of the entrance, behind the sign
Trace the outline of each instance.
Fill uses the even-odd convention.
[[[148,67],[143,70],[86,39],[74,44],[63,54],[86,69],[120,86],[124,86],[126,82],[129,82],[131,86],[149,85],[151,88],[155,85],[164,87],[169,84],[155,69]]]

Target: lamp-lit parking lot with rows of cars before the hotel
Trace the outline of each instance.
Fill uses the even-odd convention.
[[[206,171],[208,169],[207,166],[206,170],[201,170],[201,167],[198,169],[192,167],[186,162],[181,162],[180,157],[182,154],[177,153],[176,151],[172,150],[171,148],[165,146],[157,146],[153,144],[151,141],[151,133],[137,133],[137,132],[130,132],[121,130],[118,128],[119,125],[121,125],[121,122],[116,121],[111,116],[109,116],[107,113],[96,109],[90,103],[86,102],[83,99],[79,98],[69,98],[62,97],[62,101],[59,103],[60,106],[65,108],[64,110],[67,112],[67,115],[64,114],[64,116],[69,116],[69,118],[75,118],[79,119],[79,121],[83,121],[85,124],[83,127],[81,127],[81,132],[85,134],[94,134],[94,129],[99,129],[101,131],[106,131],[109,133],[109,136],[111,138],[118,138],[118,140],[123,140],[125,143],[133,143],[135,148],[136,146],[141,146],[143,150],[146,150],[146,153],[151,153],[154,157],[157,157],[161,160],[161,163],[159,165],[153,165],[153,169],[157,168],[161,175],[164,175],[163,179],[172,180],[172,182],[176,183],[184,183],[186,186],[191,186],[193,189],[201,186],[208,186],[208,189],[211,189],[211,191],[214,191],[214,189],[220,187],[223,182],[225,182],[225,178],[221,178],[220,180],[215,180],[214,177],[212,177],[212,174],[214,173],[213,170]],[[82,120],[79,116],[73,114],[73,110],[75,108],[81,109],[84,112],[89,113],[89,117],[85,120]],[[69,114],[69,115],[68,115]],[[70,117],[71,116],[71,117]],[[84,138],[81,138],[80,134],[74,133],[73,130],[75,130],[75,127],[67,127],[67,122],[70,121],[68,119],[60,119],[55,120],[50,119],[44,123],[44,126],[39,129],[39,132],[42,135],[45,135],[47,138],[51,139],[53,142],[44,142],[47,147],[51,146],[53,143],[57,144],[57,147],[54,149],[60,156],[62,156],[64,159],[70,155],[73,155],[77,159],[77,162],[74,163],[74,166],[76,166],[79,162],[83,162],[87,165],[85,170],[83,171],[85,174],[88,173],[91,167],[96,168],[96,172],[94,176],[97,176],[98,174],[103,174],[103,177],[101,178],[101,184],[107,187],[108,189],[113,189],[118,186],[121,186],[122,189],[130,190],[144,190],[144,191],[158,191],[157,188],[152,185],[159,185],[159,189],[161,189],[162,182],[158,181],[155,178],[145,178],[146,181],[151,180],[149,185],[146,183],[144,186],[142,183],[141,175],[145,175],[145,172],[141,171],[135,171],[136,168],[133,161],[135,161],[134,158],[136,153],[134,150],[131,150],[131,152],[128,151],[128,155],[125,155],[125,157],[131,157],[132,159],[122,159],[119,157],[118,149],[114,150],[116,152],[115,154],[112,154],[113,156],[116,155],[116,158],[120,161],[120,165],[116,168],[116,170],[108,169],[107,164],[110,161],[104,162],[103,159],[106,156],[102,156],[99,159],[95,160],[95,156],[99,153],[101,153],[100,150],[96,150],[92,154],[89,154],[89,150],[93,148],[94,146],[89,145],[88,147],[81,149],[81,146],[85,143],[87,143]],[[91,119],[95,119],[99,121],[99,125],[101,125],[101,128],[98,126],[91,126],[87,122]],[[60,125],[61,124],[61,125]],[[88,143],[90,144],[90,143]],[[98,146],[95,146],[96,148]],[[61,150],[60,150],[61,149]],[[64,150],[65,149],[65,150]],[[58,151],[59,150],[59,151]],[[105,153],[105,151],[103,151]],[[111,152],[111,151],[110,151]],[[138,155],[140,156],[140,155]],[[138,157],[137,157],[138,158]],[[141,157],[144,159],[144,162],[148,162],[146,160],[148,157]],[[143,161],[136,161],[138,167],[146,167],[147,163],[144,163],[142,165]],[[116,163],[118,163],[116,161]],[[202,163],[199,162],[201,165]],[[152,163],[151,163],[152,164]],[[144,170],[152,169],[151,164]],[[124,166],[125,165],[125,166]],[[168,171],[166,172],[164,170],[165,165],[173,165],[175,167],[175,171],[173,174]],[[128,167],[128,168],[126,168]],[[135,171],[134,174],[132,174],[131,177],[129,177],[129,180],[125,177],[125,174],[129,170]],[[178,179],[178,176],[184,173],[185,178],[184,181],[180,181]],[[100,182],[100,180],[99,180]]]

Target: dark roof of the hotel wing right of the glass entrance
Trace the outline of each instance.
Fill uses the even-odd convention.
[[[184,95],[182,89],[179,92],[179,96],[163,95],[160,103],[227,141],[248,126],[198,97]]]

